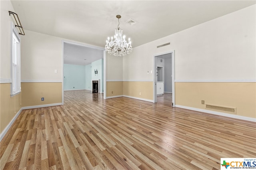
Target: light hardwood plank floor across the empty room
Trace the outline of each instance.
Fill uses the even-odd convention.
[[[22,111],[0,143],[0,169],[220,169],[256,157],[256,123],[65,91],[63,106]]]

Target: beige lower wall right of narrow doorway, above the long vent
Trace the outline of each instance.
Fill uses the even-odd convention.
[[[236,115],[256,118],[256,83],[175,83],[175,105],[205,109],[202,100],[207,104],[236,107]]]

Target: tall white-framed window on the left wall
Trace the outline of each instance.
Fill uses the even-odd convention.
[[[12,39],[11,39],[11,95],[16,95],[20,92],[20,37],[12,24]]]

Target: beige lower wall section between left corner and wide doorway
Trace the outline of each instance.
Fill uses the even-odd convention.
[[[21,83],[21,89],[22,107],[62,103],[62,83]]]

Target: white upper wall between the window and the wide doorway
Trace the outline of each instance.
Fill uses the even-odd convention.
[[[63,39],[28,30],[25,34],[21,43],[21,80],[62,82]]]

